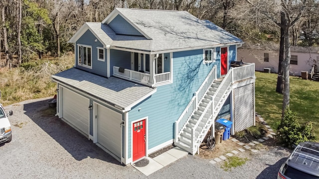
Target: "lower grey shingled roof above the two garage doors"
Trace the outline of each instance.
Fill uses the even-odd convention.
[[[76,68],[51,76],[52,81],[78,89],[124,111],[156,92],[150,88],[116,77],[104,78]]]

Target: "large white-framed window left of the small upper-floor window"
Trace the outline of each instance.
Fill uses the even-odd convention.
[[[88,45],[78,45],[78,64],[92,68],[92,48]]]

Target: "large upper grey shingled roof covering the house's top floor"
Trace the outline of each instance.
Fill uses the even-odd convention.
[[[120,15],[143,36],[115,33],[108,25]],[[187,11],[116,8],[102,23],[85,23],[105,47],[149,51],[182,51],[243,41],[208,20],[200,20]],[[82,32],[83,34],[84,32]],[[70,39],[76,42],[81,29]]]

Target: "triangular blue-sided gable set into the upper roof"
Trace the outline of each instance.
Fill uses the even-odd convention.
[[[117,15],[108,25],[117,34],[143,36],[138,30],[136,30],[136,28],[134,28],[129,22],[127,22],[121,15]]]

